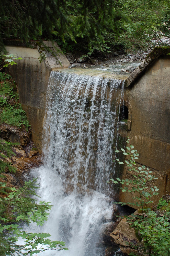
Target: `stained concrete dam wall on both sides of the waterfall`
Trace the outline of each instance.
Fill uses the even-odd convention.
[[[61,69],[61,65],[50,54],[46,54],[46,59],[40,63],[38,48],[7,46],[6,49],[23,58],[8,71],[16,81],[20,102],[32,128],[32,140],[41,148],[49,76],[51,70]],[[58,58],[62,67],[70,65],[65,56]],[[160,195],[169,193],[170,56],[167,50],[153,50],[137,69],[122,79],[126,79],[124,106],[128,109],[127,136],[140,155],[138,164],[147,166],[158,177],[156,186],[160,188]],[[126,168],[122,177],[130,177]],[[120,191],[120,201],[130,202],[132,197]]]

